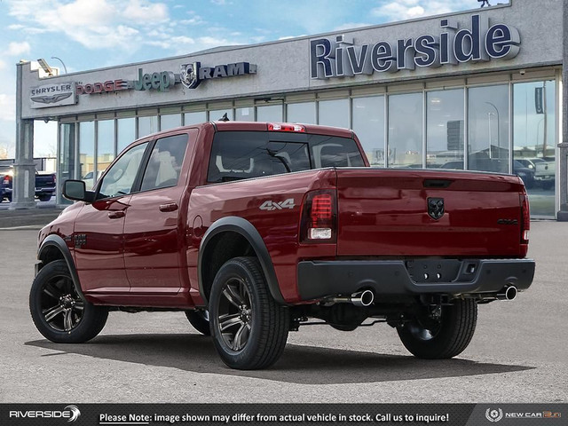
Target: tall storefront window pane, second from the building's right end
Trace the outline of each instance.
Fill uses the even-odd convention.
[[[509,172],[509,86],[468,91],[468,169]]]

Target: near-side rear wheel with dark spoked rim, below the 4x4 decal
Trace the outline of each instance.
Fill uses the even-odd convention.
[[[219,269],[209,319],[213,342],[228,367],[270,367],[286,346],[288,309],[272,298],[256,257],[235,257]]]

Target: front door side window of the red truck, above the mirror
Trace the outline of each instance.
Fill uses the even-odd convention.
[[[100,183],[99,198],[131,193],[148,143],[131,147],[107,171]]]

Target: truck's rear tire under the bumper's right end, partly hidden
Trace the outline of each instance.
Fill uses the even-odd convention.
[[[398,336],[415,357],[422,359],[448,359],[459,355],[476,330],[477,303],[473,299],[455,300],[441,307],[438,321],[427,327],[420,319],[413,319],[397,327]]]

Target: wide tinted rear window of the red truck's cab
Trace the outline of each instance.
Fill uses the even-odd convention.
[[[351,138],[263,131],[219,131],[208,182],[228,182],[326,167],[363,167]]]

